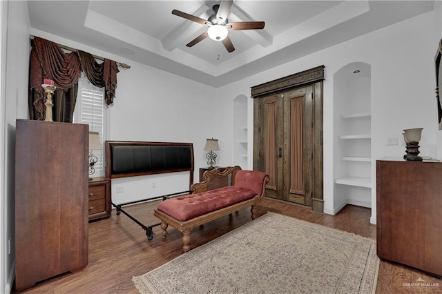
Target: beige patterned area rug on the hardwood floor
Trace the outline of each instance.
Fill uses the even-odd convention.
[[[376,240],[267,213],[133,277],[140,293],[374,293]]]

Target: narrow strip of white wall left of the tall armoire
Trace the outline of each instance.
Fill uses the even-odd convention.
[[[15,276],[15,121],[17,118],[28,117],[29,17],[25,1],[1,1],[0,5],[2,6],[0,141],[3,156],[0,172],[2,218],[0,292],[10,293]],[[4,26],[6,22],[7,26]]]

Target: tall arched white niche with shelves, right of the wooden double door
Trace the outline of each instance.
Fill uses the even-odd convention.
[[[372,207],[371,66],[349,63],[334,74],[334,213]]]

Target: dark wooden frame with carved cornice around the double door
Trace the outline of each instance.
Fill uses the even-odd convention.
[[[294,75],[282,77],[265,84],[251,87],[251,97],[256,98],[253,103],[253,169],[262,170],[262,158],[259,146],[261,137],[259,132],[260,99],[279,92],[286,92],[301,86],[312,85],[314,88],[314,137],[313,137],[313,175],[311,210],[323,213],[323,80],[325,66],[317,66]]]

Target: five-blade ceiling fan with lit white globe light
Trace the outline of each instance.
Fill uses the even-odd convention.
[[[209,26],[209,29],[207,29],[206,32],[203,32],[201,35],[190,41],[186,46],[192,47],[196,43],[206,39],[206,37],[209,37],[215,41],[221,41],[228,52],[233,52],[235,47],[233,47],[233,43],[228,36],[229,30],[260,30],[264,28],[264,21],[238,21],[229,23],[227,17],[229,16],[232,3],[233,0],[221,1],[220,4],[214,5],[212,8],[213,14],[207,20],[195,17],[195,15],[187,14],[180,10],[172,10],[172,14],[175,14],[178,17],[183,17],[184,19],[195,21],[204,26]]]

